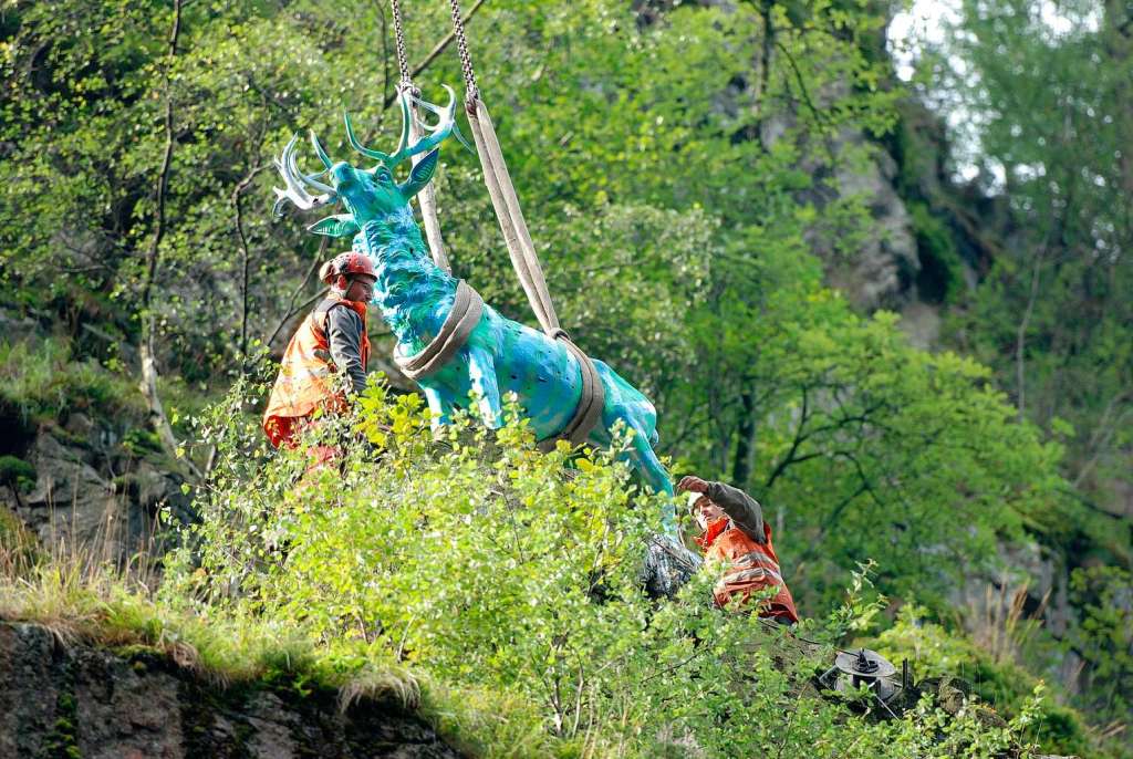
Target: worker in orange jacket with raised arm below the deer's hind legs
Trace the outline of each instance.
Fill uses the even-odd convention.
[[[799,612],[783,581],[772,528],[764,521],[759,502],[730,485],[691,475],[682,478],[676,489],[689,494],[689,506],[701,530],[696,541],[705,558],[725,566],[713,589],[716,605],[744,605],[752,594],[774,588],[774,595],[761,603],[759,616],[785,625],[796,623]]]

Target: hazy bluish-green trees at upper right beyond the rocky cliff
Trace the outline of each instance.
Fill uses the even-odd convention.
[[[1130,22],[1123,3],[973,0],[921,63],[928,96],[964,114],[956,159],[997,196],[982,221],[1011,236],[980,262],[990,271],[955,315],[956,341],[1022,413],[1073,426],[1068,479],[1115,514],[1133,461]],[[1091,531],[1127,564],[1128,526],[1122,540],[1113,527]]]

